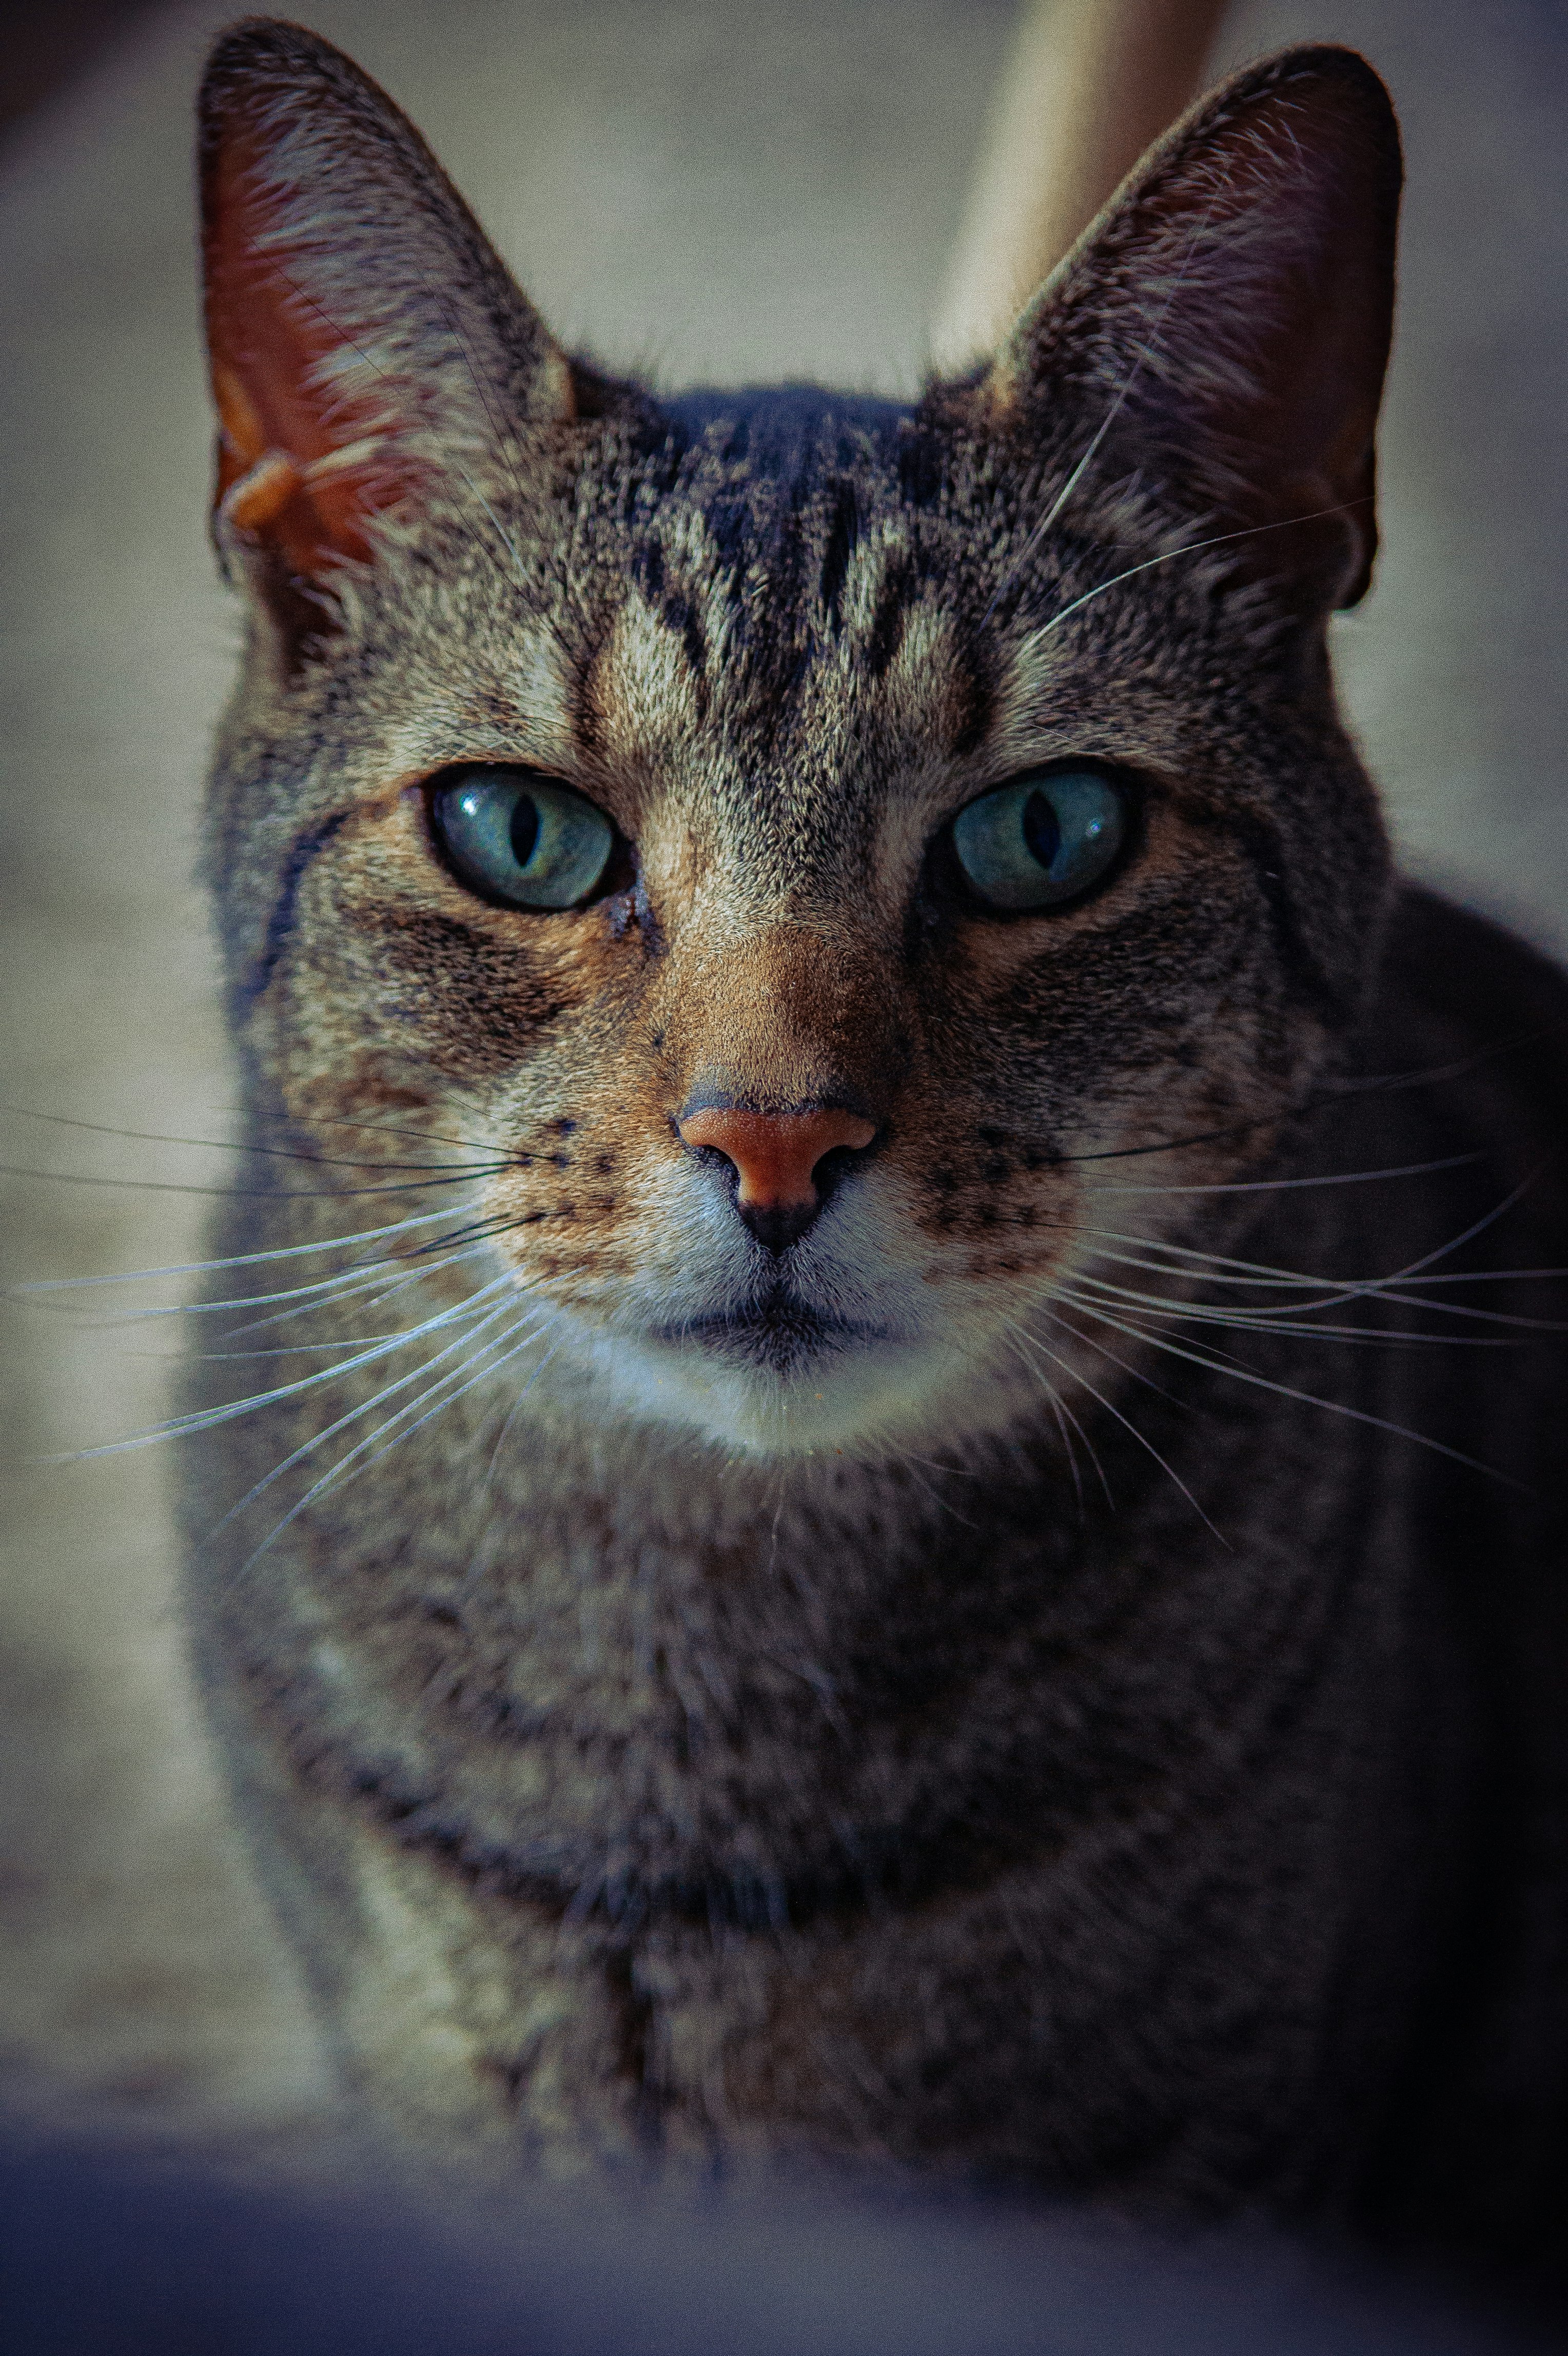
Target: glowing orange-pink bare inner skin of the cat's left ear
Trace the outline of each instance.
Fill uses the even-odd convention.
[[[323,363],[353,346],[353,327],[311,299],[308,250],[264,243],[290,198],[268,188],[266,153],[245,127],[210,155],[202,200],[217,504],[306,580],[341,558],[365,563],[365,521],[414,481],[386,434],[391,386],[372,377],[367,398],[353,401],[320,382]]]

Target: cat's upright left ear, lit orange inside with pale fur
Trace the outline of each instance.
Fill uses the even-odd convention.
[[[572,370],[412,123],[315,33],[224,33],[198,160],[219,542],[330,605],[372,518],[570,417]]]

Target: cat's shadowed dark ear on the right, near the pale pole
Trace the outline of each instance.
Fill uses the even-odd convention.
[[[1297,608],[1351,605],[1377,549],[1398,191],[1366,59],[1311,47],[1238,73],[1123,181],[979,396],[1024,431],[1071,398],[1097,469],[1248,535],[1238,568]]]

